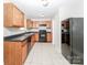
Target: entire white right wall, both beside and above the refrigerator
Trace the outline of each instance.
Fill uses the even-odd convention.
[[[53,44],[55,50],[61,53],[61,22],[67,18],[84,17],[83,0],[74,0],[58,8],[58,12],[53,18]]]

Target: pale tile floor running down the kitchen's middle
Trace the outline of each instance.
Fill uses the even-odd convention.
[[[24,65],[70,65],[51,43],[36,43]],[[73,64],[74,65],[74,64]]]

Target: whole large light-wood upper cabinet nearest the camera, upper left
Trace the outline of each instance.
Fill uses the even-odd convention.
[[[23,28],[24,13],[21,12],[13,3],[4,3],[4,26]]]

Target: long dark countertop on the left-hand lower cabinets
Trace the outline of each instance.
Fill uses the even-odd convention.
[[[21,42],[33,35],[34,33],[23,33],[19,35],[11,35],[11,36],[6,36],[4,41],[11,41],[11,42]]]

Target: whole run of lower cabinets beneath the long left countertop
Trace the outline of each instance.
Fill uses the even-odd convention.
[[[30,50],[35,44],[35,34],[24,41],[4,41],[3,58],[4,65],[23,65]]]

